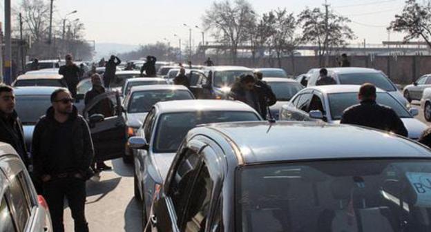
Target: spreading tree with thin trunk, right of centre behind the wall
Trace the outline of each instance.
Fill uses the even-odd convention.
[[[353,30],[347,25],[350,19],[328,10],[327,14],[320,8],[306,8],[298,15],[298,23],[303,28],[302,41],[318,46],[319,64],[323,66],[323,56],[329,54],[330,48],[341,47],[348,40],[355,38]]]

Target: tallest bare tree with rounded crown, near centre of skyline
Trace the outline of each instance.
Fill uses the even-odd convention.
[[[247,41],[250,28],[256,23],[256,15],[251,4],[246,0],[214,1],[211,8],[205,12],[203,25],[206,30],[212,30],[212,36],[226,43],[231,50],[233,63],[236,63],[238,46]]]

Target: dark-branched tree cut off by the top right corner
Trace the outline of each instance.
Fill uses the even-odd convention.
[[[405,1],[403,13],[396,14],[387,29],[407,33],[404,41],[422,38],[431,48],[431,2]]]

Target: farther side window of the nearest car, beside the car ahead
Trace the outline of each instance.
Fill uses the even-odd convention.
[[[197,153],[187,150],[178,166],[169,185],[168,196],[171,197],[177,218],[184,215],[187,196],[191,190],[195,175],[198,173],[200,158]],[[178,220],[178,223],[180,223]],[[180,225],[178,225],[180,226]]]

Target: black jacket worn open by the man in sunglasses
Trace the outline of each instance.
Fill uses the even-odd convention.
[[[54,109],[52,107],[48,108],[46,115],[42,116],[37,122],[32,140],[33,166],[36,177],[40,178],[43,175],[61,173],[81,173],[86,175],[88,172],[94,157],[90,129],[85,119],[78,115],[78,110],[75,106],[68,120],[73,123],[73,129],[70,131],[73,137],[73,140],[70,141],[70,143],[73,143],[73,159],[50,154],[50,148],[54,140],[52,135],[55,135],[55,124],[57,123],[54,118]],[[66,162],[66,160],[68,162],[73,160],[72,164],[68,164],[72,169],[58,170],[55,163]]]

